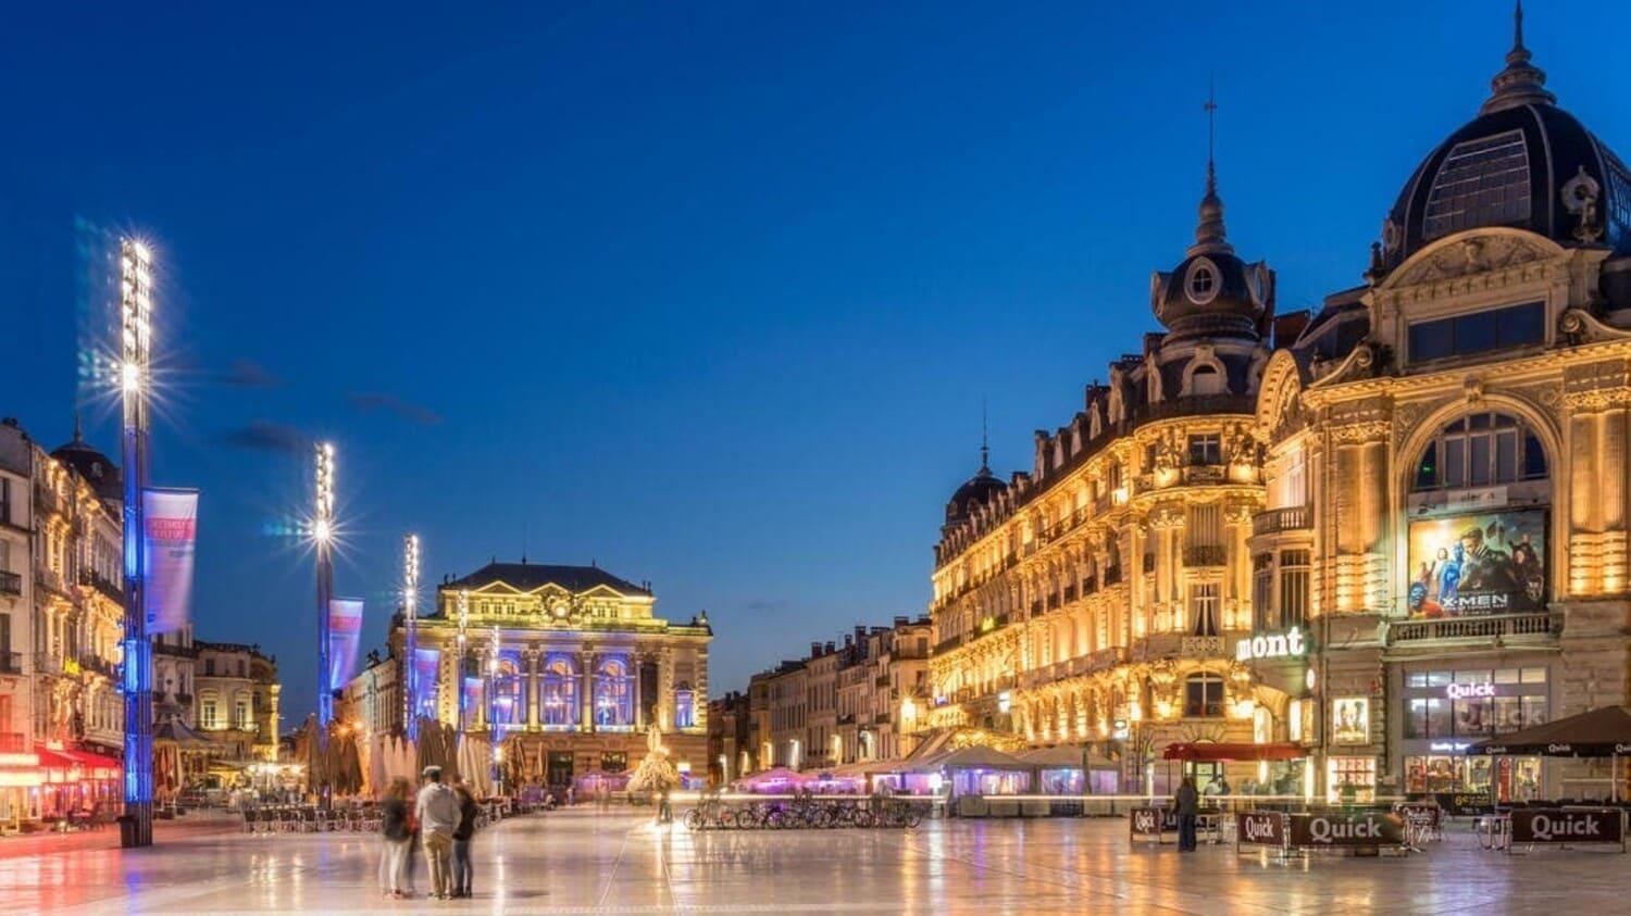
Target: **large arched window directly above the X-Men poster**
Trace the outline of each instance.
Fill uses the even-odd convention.
[[[1414,491],[1487,487],[1546,478],[1546,450],[1527,424],[1481,412],[1447,424],[1416,463]]]

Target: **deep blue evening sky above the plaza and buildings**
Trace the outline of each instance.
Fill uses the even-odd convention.
[[[1611,2],[1532,3],[1561,103],[1631,152]],[[199,486],[204,639],[315,693],[302,435],[341,593],[515,559],[706,608],[713,691],[922,613],[951,491],[1028,468],[1153,329],[1218,96],[1230,238],[1282,311],[1359,282],[1471,119],[1504,0],[24,3],[0,29],[0,414],[117,455],[75,225],[161,258],[155,482]]]

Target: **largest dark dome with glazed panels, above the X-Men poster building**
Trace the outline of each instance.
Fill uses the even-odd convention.
[[[1381,230],[1383,264],[1479,227],[1517,227],[1561,244],[1631,251],[1631,171],[1546,90],[1514,16],[1507,65],[1478,117],[1439,143]]]

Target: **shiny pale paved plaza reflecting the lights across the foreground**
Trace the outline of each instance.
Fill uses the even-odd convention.
[[[173,831],[153,849],[0,841],[13,913],[1623,913],[1631,859],[1502,856],[1465,828],[1408,859],[1271,864],[1130,848],[1119,820],[701,833],[592,810],[476,839],[468,901],[382,900],[370,836]],[[426,887],[424,864],[418,869]]]

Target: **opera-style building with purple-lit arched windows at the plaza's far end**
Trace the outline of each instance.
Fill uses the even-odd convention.
[[[594,566],[493,562],[437,587],[418,623],[414,707],[524,753],[548,784],[634,769],[657,725],[682,773],[708,768],[706,614],[675,624],[656,597]],[[401,658],[401,621],[391,654]]]

